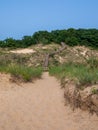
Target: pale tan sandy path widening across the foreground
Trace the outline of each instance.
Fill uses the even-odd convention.
[[[73,112],[64,106],[63,90],[48,73],[34,83],[21,86],[3,80],[0,82],[0,130],[98,130],[96,115],[81,110]]]

